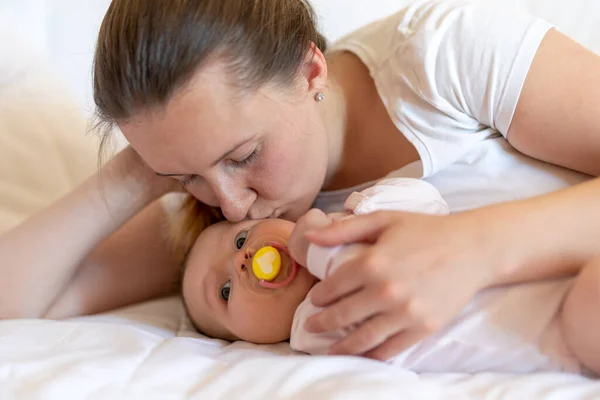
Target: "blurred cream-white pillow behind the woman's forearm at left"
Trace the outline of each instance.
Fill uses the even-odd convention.
[[[46,60],[0,26],[2,233],[93,173],[98,141]]]

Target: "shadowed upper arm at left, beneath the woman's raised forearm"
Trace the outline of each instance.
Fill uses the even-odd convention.
[[[95,314],[173,294],[179,258],[167,243],[167,218],[155,201],[96,247],[44,314]]]

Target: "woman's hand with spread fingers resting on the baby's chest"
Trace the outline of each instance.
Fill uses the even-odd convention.
[[[501,239],[490,238],[476,213],[430,216],[377,212],[308,232],[323,246],[367,242],[361,256],[317,284],[315,306],[326,307],[307,329],[359,326],[332,354],[387,360],[456,317],[503,265]],[[501,268],[501,267],[499,267]]]

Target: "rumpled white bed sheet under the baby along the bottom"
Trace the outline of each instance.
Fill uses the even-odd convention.
[[[195,333],[176,297],[68,321],[0,322],[0,399],[599,399],[568,374],[418,376]]]

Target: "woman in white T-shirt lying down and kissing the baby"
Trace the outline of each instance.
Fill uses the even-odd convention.
[[[300,0],[113,1],[94,97],[131,148],[104,168],[102,191],[94,177],[2,238],[0,316],[167,293],[177,257],[155,200],[175,183],[231,221],[333,211],[388,174],[438,187],[451,216],[375,213],[307,232],[370,243],[314,292],[330,307],[313,330],[360,324],[334,353],[389,358],[485,287],[593,262],[597,55],[543,21],[465,1],[417,1],[324,52]],[[310,228],[300,219],[295,234]]]

